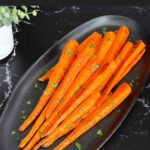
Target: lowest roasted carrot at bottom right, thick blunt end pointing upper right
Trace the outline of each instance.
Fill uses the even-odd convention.
[[[75,141],[79,136],[92,128],[96,123],[109,115],[118,105],[120,105],[131,93],[131,88],[127,83],[122,83],[119,88],[106,100],[99,108],[91,113],[81,124],[75,128],[69,136],[63,140],[54,150],[62,150]]]

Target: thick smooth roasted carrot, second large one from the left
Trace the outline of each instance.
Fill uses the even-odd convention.
[[[59,104],[58,101],[61,101],[65,93],[67,92],[68,88],[73,83],[75,77],[79,73],[79,71],[82,69],[82,67],[86,64],[86,62],[89,60],[90,57],[93,56],[93,53],[96,52],[96,48],[101,42],[100,35],[98,33],[92,34],[93,39],[90,43],[86,46],[85,50],[82,51],[82,53],[79,53],[77,55],[77,58],[71,65],[70,69],[68,70],[68,73],[64,77],[63,81],[61,82],[60,86],[58,87],[57,91],[53,95],[53,97],[50,100],[50,103],[48,104],[48,111],[47,113],[50,115],[53,110],[57,107]]]

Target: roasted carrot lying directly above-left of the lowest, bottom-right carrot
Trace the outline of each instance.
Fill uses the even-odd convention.
[[[59,129],[59,133],[58,135],[55,134],[54,132],[52,132],[52,134],[48,134],[50,135],[49,138],[45,138],[44,140],[42,140],[39,145],[43,145],[46,141],[50,141],[51,138],[53,137],[53,139],[55,138],[53,135],[56,135],[56,139],[60,136],[63,136],[65,133],[68,133],[71,129],[73,129],[76,125],[76,122],[80,122],[82,119],[84,119],[91,111],[91,108],[94,107],[95,102],[100,98],[101,94],[100,94],[100,89],[97,88],[85,101],[83,101],[63,122],[60,126],[58,126],[58,128],[56,128],[56,130],[54,130],[54,132],[57,132],[57,130]],[[70,130],[68,130],[70,129]],[[66,131],[64,131],[66,130]],[[36,146],[36,147],[38,147]]]

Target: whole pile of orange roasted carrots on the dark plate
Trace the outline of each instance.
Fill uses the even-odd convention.
[[[131,93],[128,83],[112,89],[145,53],[145,44],[128,41],[129,30],[121,26],[102,37],[89,35],[81,44],[70,40],[58,63],[39,81],[48,80],[45,91],[28,118],[23,132],[35,121],[21,140],[24,150],[47,148],[69,133],[55,150],[62,150],[110,114]]]

